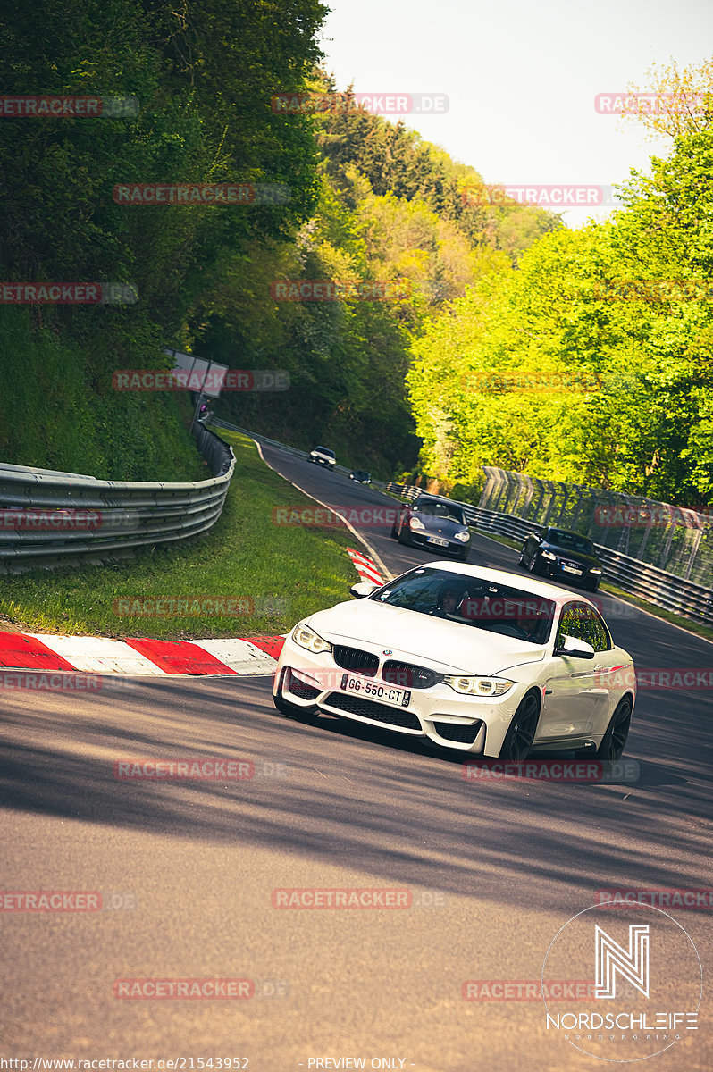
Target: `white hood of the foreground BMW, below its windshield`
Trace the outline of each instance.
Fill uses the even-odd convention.
[[[391,649],[444,672],[497,674],[545,658],[541,645],[373,599],[338,604],[308,621],[325,640],[356,647],[366,644],[369,650]]]

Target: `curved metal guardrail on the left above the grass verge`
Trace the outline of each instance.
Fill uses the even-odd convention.
[[[0,463],[0,574],[115,560],[206,532],[220,517],[235,457],[203,425],[193,434],[209,480],[98,480]]]

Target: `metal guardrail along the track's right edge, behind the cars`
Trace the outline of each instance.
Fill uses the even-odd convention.
[[[396,492],[402,498],[413,501],[424,489],[389,483],[387,491]],[[454,500],[454,502],[457,502]],[[530,533],[541,525],[511,513],[499,513],[494,510],[484,510],[471,503],[458,503],[463,507],[469,524],[480,532],[497,533],[509,536],[510,539],[524,540]],[[639,596],[655,607],[669,610],[672,613],[689,617],[701,625],[713,626],[713,592],[702,584],[695,584],[674,574],[668,574],[647,562],[632,559],[629,555],[599,544],[594,545],[599,559],[605,566],[604,579],[611,581],[624,592]]]

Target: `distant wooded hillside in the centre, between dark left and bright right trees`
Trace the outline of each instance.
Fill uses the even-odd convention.
[[[311,87],[335,93],[325,75]],[[473,208],[480,183],[402,123],[354,106],[311,119],[320,151],[314,215],[291,243],[227,252],[191,317],[196,353],[240,368],[285,369],[285,394],[223,394],[218,413],[296,446],[324,442],[345,464],[390,477],[418,451],[404,377],[413,341],[484,273],[510,273],[522,250],[561,226],[518,205]],[[396,281],[388,301],[276,302],[279,280]]]

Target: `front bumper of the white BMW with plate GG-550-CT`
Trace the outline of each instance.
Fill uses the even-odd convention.
[[[413,662],[413,656],[406,653],[395,651],[392,657]],[[369,691],[346,690],[345,678],[361,680]],[[375,676],[365,676],[339,667],[330,653],[314,655],[288,637],[280,654],[272,691],[306,711],[317,709],[381,729],[426,738],[443,748],[497,757],[513,715],[530,687],[516,682],[505,696],[493,698],[461,696],[443,683],[431,688],[395,685],[381,676],[381,665]],[[410,694],[407,705],[400,702],[404,693]]]

